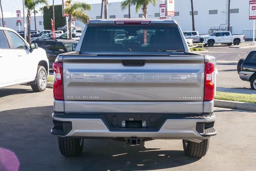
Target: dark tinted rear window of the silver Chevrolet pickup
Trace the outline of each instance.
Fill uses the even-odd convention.
[[[126,38],[116,42],[116,33]],[[152,52],[184,50],[180,32],[176,26],[88,26],[81,51]]]

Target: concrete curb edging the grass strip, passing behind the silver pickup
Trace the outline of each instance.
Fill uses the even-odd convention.
[[[52,83],[47,83],[47,88],[52,88]],[[214,107],[256,111],[256,103],[246,103],[239,101],[214,100]]]

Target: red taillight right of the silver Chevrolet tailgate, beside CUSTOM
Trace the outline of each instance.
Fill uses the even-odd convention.
[[[214,64],[207,62],[204,68],[204,101],[212,101],[214,98],[214,83],[212,82],[212,73]]]

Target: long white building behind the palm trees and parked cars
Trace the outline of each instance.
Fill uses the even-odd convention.
[[[82,0],[80,0],[82,1]],[[112,2],[108,4],[108,18],[127,18],[128,9],[121,10],[121,2]],[[148,5],[148,18],[159,18],[159,4],[156,6]],[[92,10],[86,13],[92,20],[100,18],[101,4],[91,4]],[[249,0],[232,0],[230,4],[230,26],[232,34],[245,34],[246,38],[252,37],[253,21],[249,20]],[[176,20],[183,31],[192,30],[190,0],[175,0],[175,16],[171,19]],[[209,30],[227,27],[228,20],[228,0],[194,0],[194,19],[195,28],[200,34],[207,34]],[[37,16],[38,30],[42,30],[40,23],[43,23],[42,16]],[[104,18],[104,11],[103,11]],[[131,6],[131,18],[142,18],[142,10],[135,12],[135,6]],[[15,19],[16,20],[16,19]],[[6,18],[8,27],[17,30],[14,19],[9,22]],[[14,22],[13,24],[10,24]],[[31,22],[32,30],[34,30],[33,19]],[[75,23],[77,26],[84,28],[84,24],[79,21]]]

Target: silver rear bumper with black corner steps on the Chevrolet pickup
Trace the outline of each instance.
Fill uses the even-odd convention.
[[[53,113],[54,127],[51,132],[62,137],[150,137],[152,139],[207,139],[216,135],[215,115],[165,119],[156,131],[145,129],[111,131],[104,119],[62,117]],[[63,124],[62,124],[63,123]],[[64,125],[61,128],[61,125]],[[211,125],[209,127],[209,125]],[[62,130],[61,130],[62,129]]]

